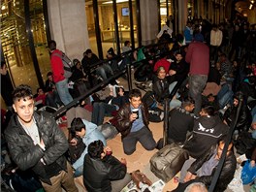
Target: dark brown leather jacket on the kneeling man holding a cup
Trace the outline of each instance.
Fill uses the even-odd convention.
[[[141,107],[144,125],[148,127],[149,121],[147,107],[143,103]],[[125,138],[131,132],[133,124],[133,122],[130,121],[131,114],[132,112],[130,104],[126,104],[117,112],[117,114],[114,117],[115,123],[113,124],[113,126],[115,126],[115,128],[121,133],[122,139]]]

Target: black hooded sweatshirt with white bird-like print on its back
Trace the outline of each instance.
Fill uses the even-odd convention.
[[[183,146],[195,159],[228,133],[229,127],[218,116],[201,116],[195,120],[192,138]]]

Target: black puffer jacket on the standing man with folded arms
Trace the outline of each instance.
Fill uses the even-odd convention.
[[[47,112],[34,112],[34,118],[39,136],[46,145],[45,151],[39,144],[33,143],[19,123],[16,114],[12,116],[5,131],[5,137],[12,159],[18,168],[22,171],[32,169],[43,182],[51,184],[46,167],[55,162],[62,170],[67,171],[67,160],[63,154],[67,151],[69,144],[54,118]],[[46,165],[41,162],[41,158]]]

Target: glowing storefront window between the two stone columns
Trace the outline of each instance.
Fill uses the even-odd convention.
[[[130,12],[128,0],[119,2],[116,0],[116,14],[117,14],[117,25],[118,34],[115,33],[114,29],[114,18],[112,0],[98,1],[98,15],[99,15],[99,27],[101,31],[101,41],[103,48],[103,55],[106,57],[106,53],[109,48],[113,48],[117,53],[116,36],[119,37],[120,45],[122,48],[125,41],[131,42],[130,31],[134,31],[135,47],[137,47],[138,35],[137,35],[137,16],[136,16],[136,1],[132,1],[133,9],[133,27],[130,24]],[[94,53],[97,54],[97,41],[95,33],[95,23],[93,13],[93,1],[85,0],[85,12],[87,17],[87,27],[89,32],[90,47]],[[132,43],[132,42],[131,42]]]

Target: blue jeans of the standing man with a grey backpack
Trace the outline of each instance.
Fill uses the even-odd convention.
[[[55,83],[60,100],[66,106],[73,101],[72,96],[69,93],[68,80],[61,80]]]

